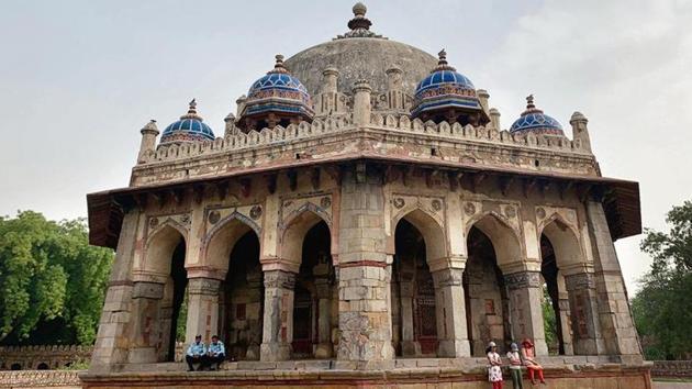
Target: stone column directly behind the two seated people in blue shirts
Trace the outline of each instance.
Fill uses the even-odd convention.
[[[192,343],[197,335],[202,335],[202,341],[209,343],[213,335],[219,335],[220,287],[221,281],[214,278],[190,278],[188,280],[186,343]]]

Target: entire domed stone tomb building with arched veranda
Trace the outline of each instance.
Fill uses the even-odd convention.
[[[485,388],[485,345],[531,338],[551,388],[650,388],[613,245],[639,189],[587,118],[568,137],[529,96],[502,130],[445,51],[354,14],[248,80],[222,136],[193,100],[88,194],[116,257],[85,386]],[[221,370],[185,371],[180,327],[220,335]]]

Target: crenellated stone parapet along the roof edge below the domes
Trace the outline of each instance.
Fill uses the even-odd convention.
[[[581,146],[580,141],[570,141],[565,136],[546,136],[543,134],[514,135],[509,131],[498,131],[489,126],[466,126],[459,123],[449,124],[440,122],[436,124],[433,121],[423,122],[418,119],[411,120],[409,115],[382,115],[372,113],[370,116],[369,127],[387,129],[395,132],[418,133],[426,136],[440,137],[447,140],[470,140],[483,143],[494,143],[504,145],[514,145],[520,147],[529,147],[538,149],[561,151],[567,153],[577,153],[590,155],[588,149]],[[337,133],[354,127],[349,115],[327,116],[326,119],[315,119],[312,123],[300,122],[299,124],[290,124],[287,127],[280,125],[274,129],[263,129],[261,131],[250,131],[247,134],[238,133],[226,137],[217,137],[214,141],[182,144],[182,145],[163,145],[156,152],[147,152],[143,155],[141,162],[157,163],[196,157],[205,154],[223,153],[228,151],[238,151],[249,147],[269,146],[280,144],[292,140],[306,140],[323,134]]]

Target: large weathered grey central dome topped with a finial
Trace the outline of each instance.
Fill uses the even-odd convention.
[[[437,65],[437,58],[413,46],[383,38],[369,31],[365,7],[354,7],[355,18],[348,23],[351,31],[306,48],[286,60],[311,95],[320,92],[322,70],[334,67],[339,71],[338,90],[350,93],[354,82],[367,79],[375,91],[387,90],[387,69],[403,70],[403,90],[413,95],[416,85]]]

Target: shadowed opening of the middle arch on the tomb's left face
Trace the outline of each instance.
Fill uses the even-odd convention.
[[[254,231],[242,235],[228,257],[228,273],[220,289],[220,333],[226,357],[259,359],[265,288],[259,264],[259,240]]]

